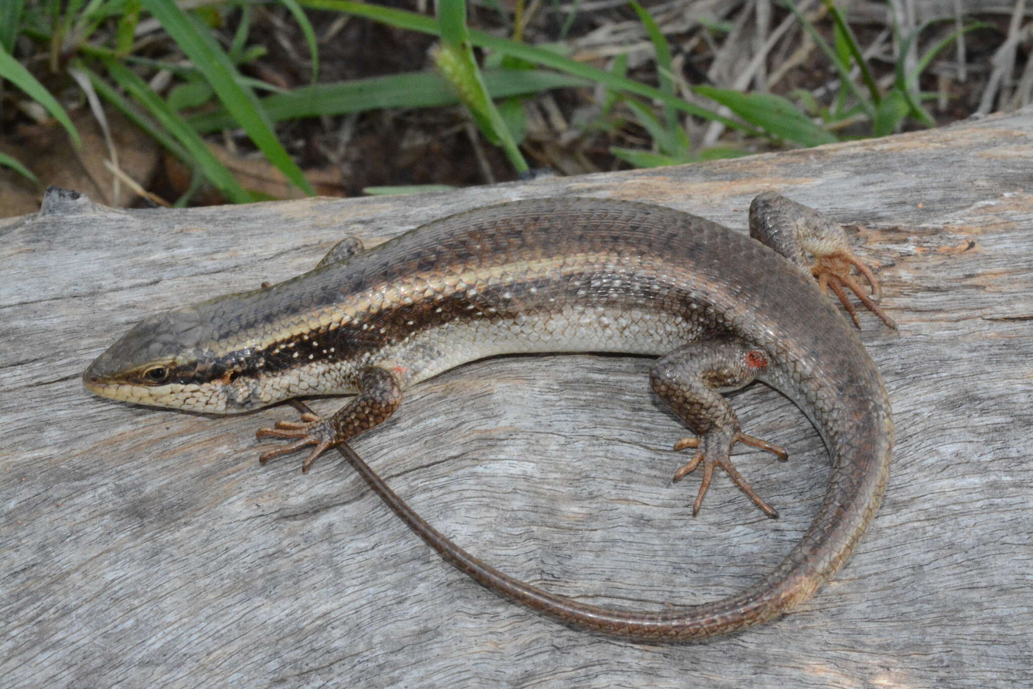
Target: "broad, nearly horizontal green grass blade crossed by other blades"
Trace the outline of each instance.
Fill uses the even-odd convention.
[[[588,81],[576,76],[542,70],[488,69],[482,74],[492,98],[589,85]],[[443,107],[459,103],[459,97],[440,74],[410,72],[300,87],[289,93],[263,98],[261,103],[270,119],[280,122],[384,107]],[[200,132],[237,126],[225,109],[195,115],[189,122]]]

